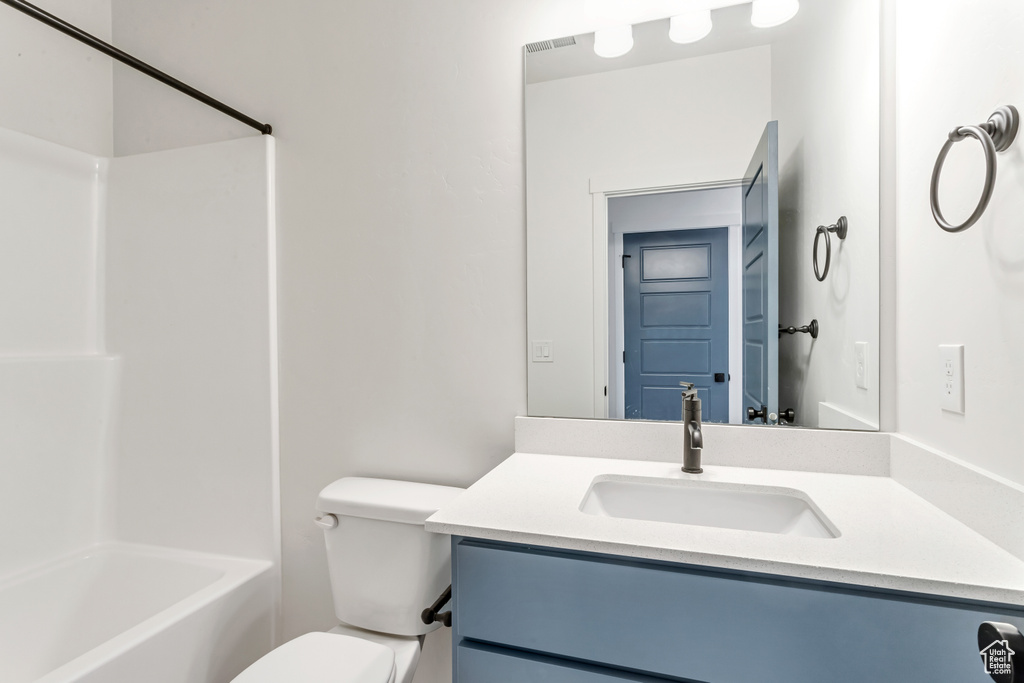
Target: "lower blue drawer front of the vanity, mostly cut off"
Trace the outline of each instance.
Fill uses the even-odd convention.
[[[459,645],[456,663],[459,683],[669,683],[664,678],[485,645]]]

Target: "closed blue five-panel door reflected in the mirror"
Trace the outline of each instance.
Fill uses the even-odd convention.
[[[728,422],[728,229],[623,236],[626,417],[680,420],[680,382],[703,419]]]

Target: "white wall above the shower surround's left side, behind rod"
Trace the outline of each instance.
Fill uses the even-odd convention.
[[[111,39],[111,0],[38,0]],[[113,151],[112,60],[22,12],[0,7],[0,126],[99,156]]]

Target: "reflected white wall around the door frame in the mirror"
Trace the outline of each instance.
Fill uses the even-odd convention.
[[[754,47],[526,86],[528,339],[554,346],[553,362],[527,364],[529,415],[594,417],[591,179],[742,177],[770,74],[770,48]]]

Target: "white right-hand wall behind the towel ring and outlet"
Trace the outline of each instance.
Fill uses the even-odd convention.
[[[974,227],[947,234],[928,194],[954,126],[1024,105],[1024,5],[896,3],[898,50],[898,426],[907,436],[1024,483],[1024,138],[998,155],[995,194]],[[956,144],[940,197],[953,221],[980,196],[980,145]],[[966,415],[939,407],[939,344],[965,344]]]

